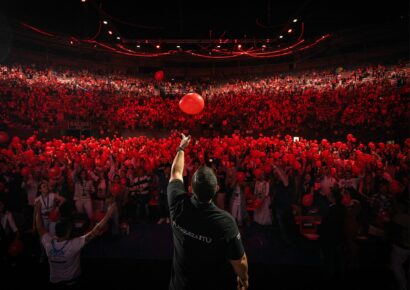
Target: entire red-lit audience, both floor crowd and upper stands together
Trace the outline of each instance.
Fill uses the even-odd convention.
[[[13,127],[40,132],[27,139],[0,132],[2,257],[21,250],[20,233],[35,228],[50,247],[48,238],[62,219],[81,221],[83,237],[96,225],[101,232],[101,221],[103,231],[113,235],[136,222],[170,223],[166,191],[176,133],[165,138],[106,133],[195,130],[204,124],[256,132],[296,133],[301,127],[400,131],[410,116],[408,74],[407,67],[372,66],[342,74],[191,83],[0,66],[0,114],[9,132]],[[178,100],[160,96],[160,87],[181,96],[200,92],[206,109],[184,115]],[[104,137],[40,137],[64,128],[71,117],[92,122]],[[283,135],[193,138],[185,152],[186,189],[196,169],[208,165],[218,178],[215,204],[229,211],[240,228],[276,225],[286,244],[303,237],[302,226],[296,225],[303,225],[303,217],[314,217],[319,230],[304,237],[319,239],[332,275],[338,272],[342,245],[348,249],[347,265],[355,268],[357,239],[389,237],[396,247],[392,268],[403,283],[402,260],[410,246],[403,234],[409,227],[410,139],[364,143],[348,134],[329,142]],[[66,233],[60,231],[60,238]]]

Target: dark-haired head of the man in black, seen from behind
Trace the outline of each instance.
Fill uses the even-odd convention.
[[[211,168],[201,166],[192,176],[192,191],[200,202],[209,202],[218,191],[218,180]]]

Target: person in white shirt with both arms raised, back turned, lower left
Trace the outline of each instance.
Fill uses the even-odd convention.
[[[70,238],[71,223],[67,220],[59,221],[56,224],[56,235],[50,235],[44,227],[41,210],[42,203],[37,201],[34,210],[35,221],[50,264],[50,283],[56,286],[76,284],[81,275],[81,249],[101,233],[116,210],[116,205],[110,205],[104,218],[89,233],[73,239]]]

